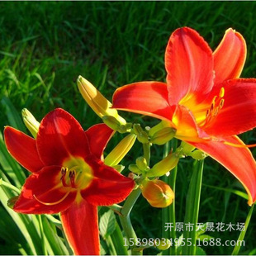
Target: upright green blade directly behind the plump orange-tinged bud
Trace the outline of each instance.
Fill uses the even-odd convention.
[[[172,142],[173,142],[172,148],[173,148],[173,151],[175,151],[175,149],[177,148],[178,141],[176,139],[173,139]],[[168,154],[169,154],[169,142],[164,146],[164,157],[166,157]],[[170,187],[172,187],[174,194],[175,194],[177,170],[178,170],[178,166],[173,168],[173,170],[171,171],[168,177],[164,175],[164,178],[163,178],[164,182],[168,183]],[[171,223],[172,228],[165,231],[164,227],[167,225],[166,223]],[[176,225],[176,220],[175,220],[175,197],[174,197],[173,203],[162,210],[162,229],[163,229],[162,237],[168,238],[168,239],[171,238],[174,241],[174,239],[176,239],[175,225]],[[174,245],[171,246],[168,250],[163,251],[163,255],[176,255],[176,254],[177,254],[177,247]]]

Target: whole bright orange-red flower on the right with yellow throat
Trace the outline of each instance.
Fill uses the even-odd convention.
[[[246,45],[232,29],[212,53],[197,31],[173,32],[165,52],[167,83],[118,88],[113,107],[163,120],[176,137],[209,154],[244,185],[256,201],[255,160],[239,134],[256,126],[256,79],[239,78]]]

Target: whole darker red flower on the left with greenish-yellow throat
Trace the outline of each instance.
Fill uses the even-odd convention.
[[[123,201],[134,187],[101,160],[112,134],[104,124],[84,131],[63,109],[45,116],[36,140],[12,127],[4,130],[9,153],[31,172],[14,211],[60,212],[74,254],[100,254],[97,206]]]

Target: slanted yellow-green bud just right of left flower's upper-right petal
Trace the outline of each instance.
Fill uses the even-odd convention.
[[[121,140],[118,145],[107,155],[104,163],[108,166],[115,166],[121,162],[126,154],[130,151],[131,147],[135,144],[136,135],[127,135]]]

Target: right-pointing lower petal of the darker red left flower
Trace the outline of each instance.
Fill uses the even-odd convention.
[[[111,206],[126,199],[135,186],[131,178],[118,173],[102,162],[87,160],[94,178],[90,186],[81,191],[82,197],[95,206]]]

